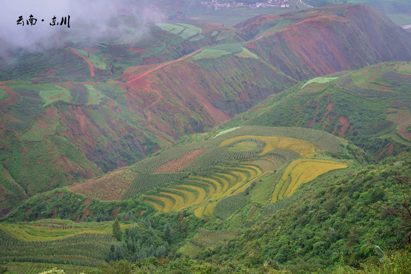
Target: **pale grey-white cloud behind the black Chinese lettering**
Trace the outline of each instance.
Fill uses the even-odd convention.
[[[37,19],[35,25],[27,25],[30,15]],[[19,16],[23,16],[24,26],[17,25]],[[59,26],[50,26],[54,16]],[[68,16],[70,28],[60,25],[62,17],[68,19]],[[162,19],[162,13],[147,0],[2,1],[0,48],[3,54],[10,54],[15,50],[43,50],[84,39],[90,42],[137,41],[147,33],[147,23]]]

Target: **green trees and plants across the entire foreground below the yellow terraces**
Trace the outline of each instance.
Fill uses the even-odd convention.
[[[88,265],[127,260],[136,265],[132,271],[140,273],[223,273],[223,270],[226,271],[224,273],[277,273],[278,269],[289,271],[283,273],[356,273],[361,267],[368,267],[371,273],[389,273],[390,270],[372,270],[391,269],[387,268],[391,267],[388,264],[379,265],[377,261],[382,255],[376,252],[375,246],[380,246],[391,256],[386,250],[396,248],[406,236],[405,232],[388,234],[402,229],[403,224],[398,218],[387,217],[383,208],[395,207],[401,202],[401,187],[393,174],[411,177],[406,169],[410,159],[411,154],[406,153],[387,158],[375,166],[326,173],[300,187],[291,197],[279,199],[273,204],[254,202],[260,210],[253,213],[252,218],[247,214],[253,204],[244,204],[240,195],[233,198],[238,200],[227,199],[226,205],[222,200],[219,211],[225,214],[224,221],[214,217],[199,220],[184,210],[149,214],[150,219],[138,214],[125,214],[124,210],[137,213],[139,204],[124,200],[118,205],[129,205],[118,208],[119,220],[127,217],[137,223],[133,221],[119,238],[120,241],[106,235],[108,238],[101,253],[90,251],[98,250],[91,245],[102,241],[95,239],[90,243],[86,241],[90,237],[88,234],[83,234],[83,241],[76,244],[70,244],[68,239],[80,236],[47,243],[23,243],[2,234],[1,238],[7,241],[0,246],[1,252],[4,252],[0,256],[6,261],[50,263],[47,252],[57,254],[53,259],[62,260],[72,255],[67,252],[74,252],[70,250],[75,247],[78,249],[74,253],[77,257],[67,258],[68,263],[80,263],[80,255],[86,258],[82,259],[83,264]],[[274,177],[270,178],[274,180]],[[255,189],[259,184],[256,182]],[[253,195],[254,189],[244,197],[252,198]],[[108,204],[90,204],[89,208],[104,208]],[[234,204],[238,205],[235,211],[226,210]],[[107,214],[113,212],[107,211]],[[170,228],[166,229],[167,223],[171,231]],[[221,236],[219,241],[202,241],[198,253],[188,253],[192,258],[176,251],[186,243],[198,245],[198,240],[204,238],[201,233],[206,230],[232,234],[224,239]],[[30,253],[23,250],[30,250]],[[408,267],[402,258],[409,257],[409,254],[404,252],[404,255],[389,258],[391,262],[397,262],[397,269]],[[215,265],[209,262],[215,262]]]

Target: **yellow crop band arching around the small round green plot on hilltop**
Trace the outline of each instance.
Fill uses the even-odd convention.
[[[302,157],[311,157],[315,155],[314,145],[300,139],[289,138],[289,137],[276,137],[276,136],[255,136],[255,135],[243,135],[233,137],[224,140],[220,143],[220,147],[227,145],[233,141],[245,139],[245,138],[255,138],[266,142],[266,145],[262,152],[258,155],[264,155],[269,151],[274,149],[287,149],[300,153]]]

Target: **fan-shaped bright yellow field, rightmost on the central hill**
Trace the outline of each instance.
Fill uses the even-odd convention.
[[[347,168],[347,165],[334,161],[297,159],[291,162],[285,170],[282,179],[275,186],[271,203],[284,196],[291,196],[301,184],[309,182],[321,174],[345,168]]]

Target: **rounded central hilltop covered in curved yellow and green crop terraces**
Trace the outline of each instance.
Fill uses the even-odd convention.
[[[312,157],[317,154],[315,149],[320,153],[341,151],[338,140],[330,134],[292,127],[242,126],[221,131],[212,138],[195,138],[196,142],[185,145],[184,141],[183,145],[134,165],[132,169],[138,175],[122,199],[146,193],[145,202],[159,213],[189,209],[199,218],[216,216],[214,210],[221,200],[233,196],[237,197],[233,200],[243,199],[237,195],[248,194],[260,179],[292,160]],[[276,198],[291,195],[302,184],[294,173],[303,174],[305,170],[300,169],[307,165],[306,169],[315,168],[316,172],[304,173],[301,178],[306,181],[328,170],[346,167],[326,161],[317,169],[315,165],[321,160],[304,162],[305,166],[295,167],[289,178],[277,184]],[[298,162],[293,162],[287,172],[295,163]],[[271,199],[271,193],[266,199]]]

